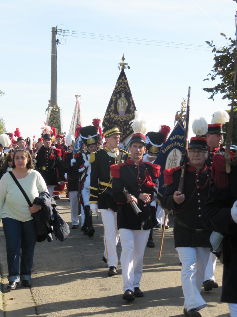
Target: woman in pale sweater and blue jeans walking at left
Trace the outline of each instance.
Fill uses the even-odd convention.
[[[32,158],[27,150],[19,148],[14,151],[12,168],[12,173],[31,202],[40,192],[47,191],[44,179],[39,172],[33,170]],[[37,238],[31,214],[40,208],[39,205],[29,207],[10,173],[3,175],[0,180],[0,219],[6,237],[8,289],[15,289],[19,280],[24,287],[31,285],[31,268]]]

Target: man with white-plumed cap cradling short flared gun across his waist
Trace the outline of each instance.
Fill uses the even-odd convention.
[[[145,145],[145,135],[133,134],[129,146],[131,158],[125,163],[111,166],[112,192],[118,203],[117,224],[122,246],[120,262],[124,281],[123,299],[126,301],[143,296],[139,288],[143,255],[150,230],[157,224],[155,207],[150,203],[157,196],[160,166],[143,162]],[[128,197],[123,193],[124,187],[129,192]],[[138,211],[141,211],[138,215],[130,202],[134,202]]]

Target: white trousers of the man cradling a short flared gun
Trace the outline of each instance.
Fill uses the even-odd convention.
[[[123,291],[140,286],[143,272],[143,255],[150,230],[119,229],[122,252],[120,257],[124,281]]]

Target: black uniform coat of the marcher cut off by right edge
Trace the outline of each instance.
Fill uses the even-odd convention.
[[[230,213],[237,200],[237,166],[232,166],[230,174],[225,173],[225,177],[228,178],[228,186],[224,189],[218,189],[214,182],[210,184],[209,195],[202,210],[202,221],[209,230],[224,235],[221,301],[237,303],[237,224]]]

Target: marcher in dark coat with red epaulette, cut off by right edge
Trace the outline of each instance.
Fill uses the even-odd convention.
[[[227,174],[225,157],[220,154],[213,157],[214,182],[202,210],[205,227],[224,236],[221,301],[228,303],[231,317],[237,316],[237,166],[234,159]]]

